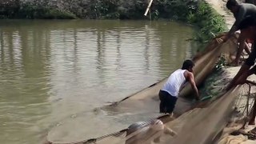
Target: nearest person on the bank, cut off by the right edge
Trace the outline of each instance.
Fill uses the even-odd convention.
[[[250,38],[252,40],[256,40],[256,17],[247,17],[242,20],[241,24],[238,26],[238,29],[241,30],[241,34],[244,35],[245,38]],[[226,90],[230,90],[232,87],[237,86],[239,84],[246,83],[246,79],[252,75],[256,74],[256,66],[254,66],[254,61],[256,59],[256,49],[253,48],[249,57],[246,59],[246,62],[242,65],[238,74],[234,76],[230,84],[227,86]],[[256,116],[256,102],[254,101],[253,110],[250,117],[250,125],[255,124],[255,116]],[[254,130],[256,133],[256,129]]]

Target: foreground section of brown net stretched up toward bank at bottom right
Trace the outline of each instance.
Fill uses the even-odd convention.
[[[152,125],[142,126],[142,129],[135,131],[132,134],[122,136],[111,136],[109,138],[103,138],[98,140],[96,143],[126,143],[128,139],[132,138],[133,144],[136,143],[218,143],[219,138],[227,133],[222,130],[230,122],[230,118],[238,117],[243,118],[247,114],[243,111],[247,109],[245,95],[240,95],[239,91],[246,91],[248,86],[238,86],[233,90],[227,91],[222,94],[216,101],[210,103],[205,108],[196,108],[190,110],[180,117],[164,123],[164,126],[174,130],[177,135],[173,136],[165,134],[159,128],[155,128]],[[247,91],[248,92],[248,91]],[[240,99],[239,99],[239,98]],[[242,98],[245,97],[245,98]],[[250,99],[250,110],[253,99]],[[235,109],[236,107],[236,109]],[[234,111],[239,110],[239,111]],[[242,114],[242,115],[238,115]],[[244,121],[242,121],[244,122]],[[145,124],[145,123],[144,123]],[[241,128],[240,126],[234,126],[236,129]],[[241,137],[241,136],[240,136]],[[130,143],[131,144],[131,143]]]

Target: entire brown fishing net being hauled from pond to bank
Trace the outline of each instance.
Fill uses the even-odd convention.
[[[220,35],[218,38],[222,38]],[[206,77],[214,70],[219,58],[226,59],[226,63],[232,62],[237,51],[238,34],[234,34],[227,42],[219,43],[218,38],[214,38],[206,50],[198,53],[194,57],[194,75],[196,83],[202,83]],[[226,74],[232,75],[232,74]],[[229,76],[233,78],[232,76]],[[174,110],[174,116],[163,115],[156,116],[146,122],[138,122],[138,130],[127,129],[106,134],[98,138],[85,138],[80,142],[72,143],[211,143],[218,142],[223,138],[224,127],[230,122],[230,117],[239,115],[236,119],[241,119],[248,115],[251,109],[252,100],[248,100],[239,93],[246,92],[249,88],[238,86],[232,90],[225,91],[223,86],[228,82],[228,78],[223,78],[219,81],[218,86],[213,87],[216,93],[207,95],[202,102],[196,103],[191,101],[193,91],[190,86],[186,86],[180,93],[180,98]],[[103,106],[102,110],[114,112],[115,114],[122,113],[138,113],[152,114],[158,110],[158,91],[166,79],[157,82],[130,97],[124,98],[119,102],[114,102],[109,106]],[[242,89],[241,89],[242,87]],[[250,103],[250,106],[248,105]],[[234,114],[234,111],[238,111]],[[152,124],[152,121],[159,119],[162,124]],[[235,119],[235,118],[234,118]],[[243,122],[243,121],[242,121]],[[239,125],[240,126],[240,125]],[[170,131],[174,131],[171,133]],[[50,138],[50,137],[49,137]],[[66,143],[54,142],[50,143]],[[61,139],[61,138],[60,138]]]

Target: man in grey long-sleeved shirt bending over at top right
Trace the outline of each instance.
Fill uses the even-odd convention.
[[[231,27],[230,31],[228,32],[228,34],[226,35],[226,38],[223,39],[223,42],[226,42],[226,40],[229,39],[231,35],[238,30],[238,26],[242,21],[242,19],[248,16],[256,15],[256,6],[250,3],[238,4],[236,0],[229,0],[226,2],[226,8],[229,9],[234,14],[235,22]],[[246,49],[246,52],[250,54],[250,50],[248,46],[246,46],[246,38],[244,38],[243,35],[241,34],[239,35],[238,43],[239,43],[238,52],[236,54],[236,58],[234,59],[234,64],[236,66],[238,66],[239,58],[242,54],[242,50]]]

